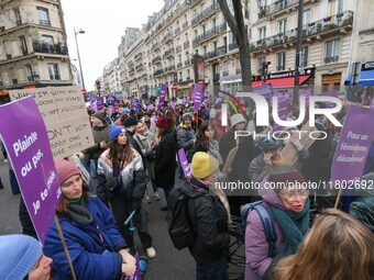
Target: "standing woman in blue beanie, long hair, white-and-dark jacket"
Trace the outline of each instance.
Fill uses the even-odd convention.
[[[127,131],[121,126],[109,130],[110,144],[99,158],[98,175],[99,187],[109,197],[117,226],[127,239],[130,248],[134,247],[133,235],[124,225],[133,211],[133,223],[146,250],[148,258],[156,256],[152,247],[152,236],[148,231],[146,212],[142,199],[146,189],[146,172],[143,167],[142,156],[133,148],[127,136]]]

